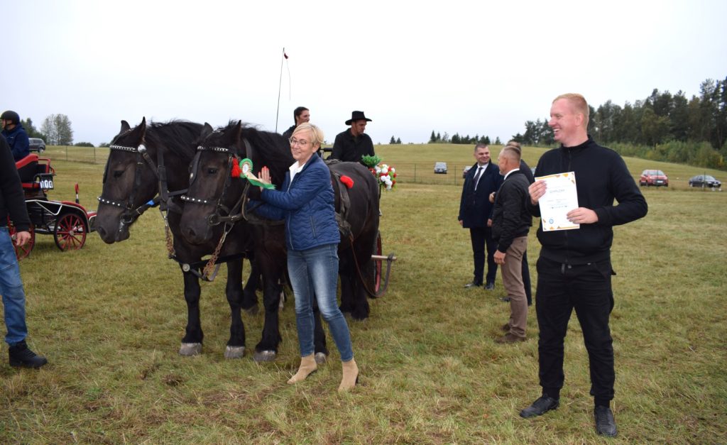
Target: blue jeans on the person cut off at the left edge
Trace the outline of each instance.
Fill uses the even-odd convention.
[[[5,311],[5,342],[8,345],[22,342],[28,336],[25,326],[25,291],[20,280],[20,268],[15,257],[15,247],[7,233],[0,227],[0,294]]]

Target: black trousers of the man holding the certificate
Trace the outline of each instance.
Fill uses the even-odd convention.
[[[611,262],[566,265],[540,257],[535,310],[539,377],[543,393],[556,397],[563,388],[563,340],[575,309],[583,331],[590,364],[591,396],[608,402],[614,398],[614,348],[608,318],[614,308]]]

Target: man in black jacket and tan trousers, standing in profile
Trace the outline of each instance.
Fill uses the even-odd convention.
[[[522,342],[526,338],[528,303],[523,286],[523,254],[528,248],[528,232],[533,217],[526,207],[527,177],[520,169],[520,150],[507,145],[497,159],[505,177],[495,196],[492,212],[492,238],[497,243],[494,260],[502,267],[502,284],[510,299],[510,320],[502,329],[507,333],[498,343]]]

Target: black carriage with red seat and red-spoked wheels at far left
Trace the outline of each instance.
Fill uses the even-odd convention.
[[[55,245],[62,251],[81,249],[87,233],[95,230],[96,212],[89,212],[79,204],[79,185],[76,201],[52,201],[47,192],[53,188],[55,169],[50,159],[31,153],[15,163],[25,193],[25,206],[31,219],[31,239],[24,246],[15,246],[18,260],[28,257],[36,243],[36,233],[53,235]],[[8,225],[11,236],[15,234]]]

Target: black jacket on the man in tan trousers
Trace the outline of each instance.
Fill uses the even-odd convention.
[[[530,201],[528,186],[530,182],[525,173],[515,170],[507,175],[495,194],[492,212],[492,238],[497,242],[497,250],[507,252],[513,239],[527,236],[533,225],[527,201]]]

